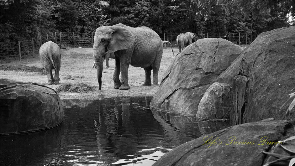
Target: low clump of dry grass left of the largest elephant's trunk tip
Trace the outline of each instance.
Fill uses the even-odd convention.
[[[94,90],[94,86],[89,83],[75,82],[60,84],[56,88],[57,92],[76,92],[76,93],[87,93]]]

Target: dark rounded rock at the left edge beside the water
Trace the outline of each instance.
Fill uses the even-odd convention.
[[[0,78],[0,134],[52,128],[63,122],[63,107],[51,88]]]

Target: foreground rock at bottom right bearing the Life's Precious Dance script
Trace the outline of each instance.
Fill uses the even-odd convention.
[[[268,139],[266,142],[283,140],[286,138],[286,133],[289,133],[287,134],[289,136],[294,135],[293,127],[287,121],[272,119],[231,126],[176,147],[162,156],[153,166],[261,166],[265,164],[267,157],[262,152],[276,149],[276,145],[268,145],[264,140],[266,138]],[[210,145],[208,141],[205,144],[210,137],[212,138],[210,141],[216,143]],[[273,160],[274,157],[267,159],[267,162]]]

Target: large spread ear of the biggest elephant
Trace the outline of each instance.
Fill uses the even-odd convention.
[[[116,25],[110,26],[110,28],[113,30],[111,32],[113,36],[108,45],[109,53],[132,47],[133,43],[135,42],[135,38],[130,30]]]

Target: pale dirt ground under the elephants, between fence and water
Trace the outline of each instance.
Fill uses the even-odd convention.
[[[178,53],[178,48],[173,47],[174,56]],[[145,71],[142,68],[136,68],[129,66],[128,70],[128,82],[130,85],[129,90],[114,89],[113,85],[113,72],[114,70],[106,69],[106,63],[104,61],[104,69],[102,74],[102,90],[98,90],[98,82],[96,76],[96,69],[92,69],[94,62],[93,48],[66,48],[61,51],[61,69],[59,73],[60,84],[74,83],[74,82],[87,82],[95,86],[95,90],[89,93],[69,93],[60,92],[61,99],[73,99],[73,98],[89,98],[96,99],[101,97],[122,97],[122,96],[153,96],[159,86],[141,86],[144,83]],[[162,80],[162,76],[168,66],[173,61],[173,53],[170,47],[163,49],[163,56],[161,60],[160,70],[158,74],[159,84]],[[8,64],[0,65],[0,77],[13,79],[21,82],[35,82],[38,84],[44,84],[50,88],[56,89],[58,85],[47,85],[47,75],[42,72],[32,72],[25,70],[26,66],[31,66],[33,69],[35,66],[42,69],[43,66],[37,58],[22,59],[21,62],[12,62]],[[13,67],[15,66],[15,67]],[[17,66],[22,66],[21,68]],[[114,68],[114,59],[109,60],[109,66]],[[36,69],[36,68],[34,68]],[[5,71],[4,71],[5,70]],[[25,71],[23,71],[25,70]],[[37,70],[40,71],[40,70]],[[153,72],[153,71],[152,71]],[[72,76],[72,79],[65,79],[68,75]],[[153,74],[152,82],[153,82]],[[83,77],[82,77],[83,76]],[[76,78],[77,77],[77,78]],[[121,76],[120,76],[121,77]]]

